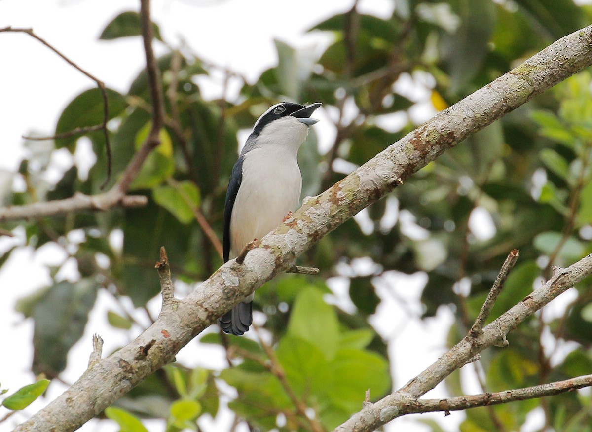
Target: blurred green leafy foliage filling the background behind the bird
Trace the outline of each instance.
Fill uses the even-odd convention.
[[[221,264],[195,214],[200,211],[221,237],[226,182],[239,146],[237,133],[252,127],[269,105],[283,99],[321,101],[333,114],[343,112],[346,105],[354,107],[352,120],[334,119],[337,137],[326,154],[319,153],[313,131],[301,149],[304,194],[317,194],[345,175],[343,167],[361,165],[410,131],[418,106],[432,111],[445,108],[587,21],[586,9],[571,0],[395,0],[394,4],[387,19],[350,11],[315,25],[310,31],[333,36],[318,57],[276,41],[278,65],[265,70],[255,83],[244,82],[228,100],[204,100],[196,84],[196,76],[214,80],[219,72],[215,66],[185,50],[169,49],[159,58],[170,121],[161,132],[162,144],[133,183],[134,191],[146,195],[149,204],[22,224],[27,234],[24,246],[60,244],[81,273],[79,281],[60,281],[57,266],[52,284],[18,305],[25,317],[35,321],[36,372],[50,376],[62,372],[99,289],[128,296],[137,308],[157,295],[152,267],[160,246],[166,246],[180,281],[202,281]],[[134,12],[124,12],[101,38],[137,35],[138,25]],[[175,56],[180,59],[178,69]],[[217,413],[221,380],[238,392],[230,408],[261,430],[308,428],[292,396],[312,408],[324,427],[332,428],[359,410],[367,388],[372,399],[390,389],[387,346],[368,323],[381,302],[374,286],[387,272],[426,273],[424,317],[435,315],[440,307],[457,311],[448,341],[452,344],[477,316],[511,249],[520,250],[520,265],[511,273],[491,318],[526,296],[540,278],[549,276],[553,265],[592,252],[591,80],[589,72],[581,73],[443,154],[388,200],[368,208],[370,228],[362,229],[352,220],[324,237],[303,257],[304,265],[321,269],[320,276],[285,275],[259,289],[255,308],[265,311],[267,319],[257,333],[271,344],[271,356],[252,338],[204,336],[202,343],[224,346],[233,366],[219,373],[167,366],[105,415],[123,431],[145,430],[136,416],[166,419],[168,431],[195,430],[201,415]],[[429,96],[418,101],[403,87],[406,82]],[[112,184],[150,128],[146,71],[131,81],[126,94],[109,90],[108,95]],[[401,118],[403,125],[395,126]],[[91,89],[64,109],[56,133],[101,122],[102,101]],[[172,126],[175,122],[178,128]],[[88,141],[96,157],[88,176],[73,165],[56,185],[43,180],[54,151],[64,148],[73,153]],[[15,173],[27,188],[4,196],[4,204],[99,191],[106,172],[101,133],[27,145],[30,156]],[[404,212],[411,217],[401,217]],[[475,230],[480,214],[491,220],[490,233]],[[83,240],[72,241],[74,232]],[[123,233],[123,248],[109,240],[113,233]],[[370,274],[353,270],[352,260],[359,257],[371,259]],[[105,259],[107,266],[101,263]],[[324,280],[337,275],[348,279],[355,312],[329,306],[323,299],[330,292]],[[458,294],[461,284],[468,284],[468,294]],[[484,354],[487,391],[590,371],[590,278],[576,289],[577,299],[563,316],[549,321],[531,318],[510,334],[509,347]],[[117,312],[109,312],[109,322],[120,331],[130,331],[128,317]],[[574,341],[576,347],[564,360],[551,363],[540,347],[543,333],[554,343]],[[458,373],[446,385],[453,395],[463,392]],[[589,396],[577,392],[549,399],[542,405],[546,424],[586,430],[589,403]],[[499,425],[517,430],[539,406],[538,401],[525,401],[469,411],[461,430],[495,431]],[[284,415],[284,423],[278,414]],[[425,425],[440,430],[435,422]]]

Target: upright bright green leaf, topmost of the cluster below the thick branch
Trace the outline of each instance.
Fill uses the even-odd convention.
[[[339,343],[339,323],[333,307],[314,288],[305,288],[296,298],[288,323],[288,334],[309,341],[332,359]]]

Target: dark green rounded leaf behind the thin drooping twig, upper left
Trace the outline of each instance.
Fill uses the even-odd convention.
[[[123,95],[111,90],[105,89],[107,93],[107,102],[109,105],[109,120],[120,115],[124,109],[127,108],[127,102]],[[56,125],[56,135],[70,132],[80,127],[89,127],[102,124],[104,117],[104,101],[102,93],[98,88],[86,90],[76,96],[70,102],[62,114]],[[94,132],[102,135],[101,132]],[[75,143],[80,134],[76,134],[66,138],[56,139],[56,148],[61,149],[67,147],[70,153],[75,150]]]

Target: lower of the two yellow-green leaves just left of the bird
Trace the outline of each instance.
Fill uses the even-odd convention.
[[[185,225],[195,220],[195,210],[200,208],[200,189],[190,180],[173,186],[157,186],[152,191],[152,196],[157,204],[166,208]]]

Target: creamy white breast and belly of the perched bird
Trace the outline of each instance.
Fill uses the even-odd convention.
[[[289,147],[281,150],[263,146],[244,154],[243,178],[230,223],[230,258],[236,257],[253,238],[265,236],[288,212],[294,211],[302,189],[297,151],[298,148],[292,151]]]

